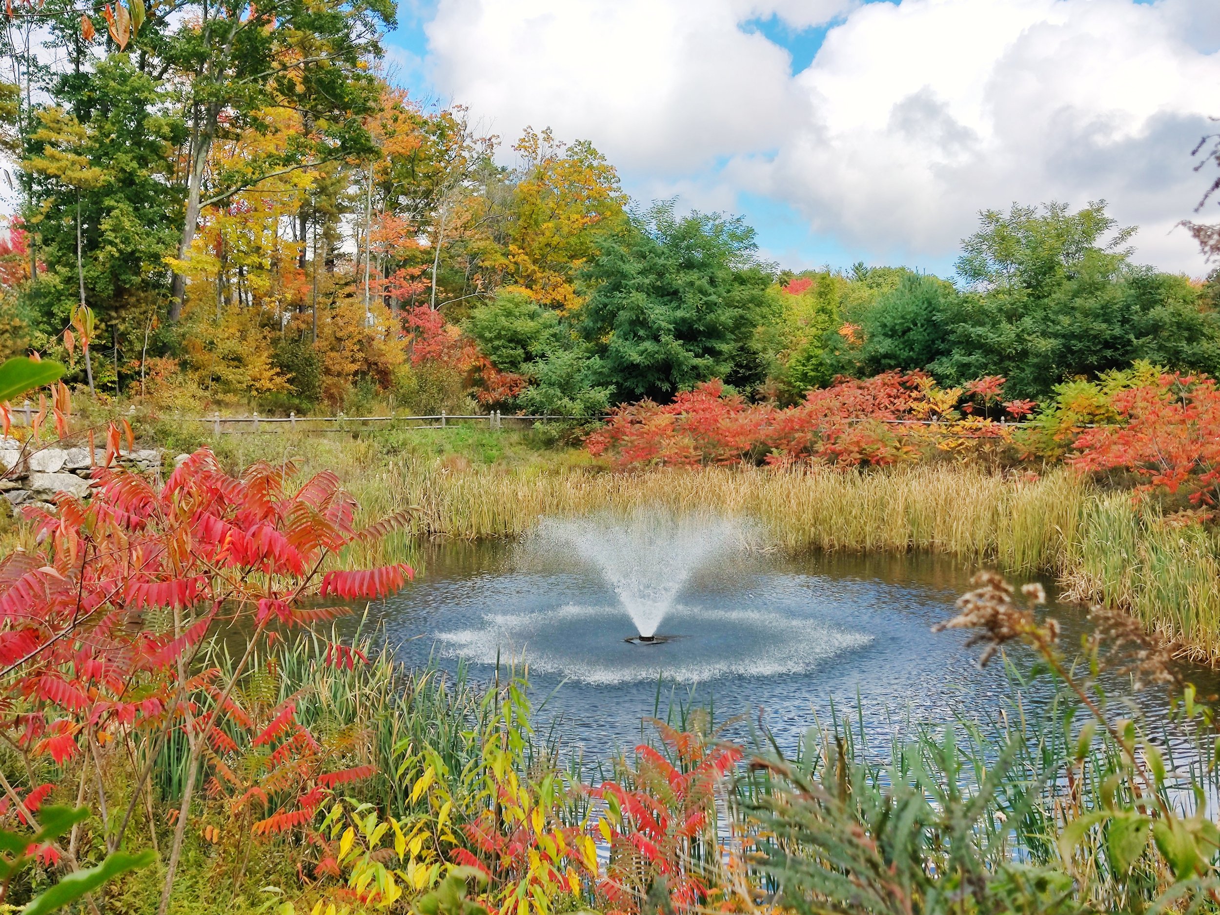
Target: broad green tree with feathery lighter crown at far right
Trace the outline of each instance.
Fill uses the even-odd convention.
[[[1075,214],[1014,206],[982,221],[958,261],[970,292],[943,317],[948,353],[932,365],[942,381],[1003,375],[1009,396],[1042,399],[1136,359],[1220,367],[1220,317],[1183,278],[1131,265],[1133,229],[1115,231],[1104,203]]]

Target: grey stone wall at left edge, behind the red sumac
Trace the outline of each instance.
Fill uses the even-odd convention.
[[[157,448],[121,451],[118,462],[133,470],[155,472],[161,470],[162,454]],[[40,504],[50,508],[56,493],[85,495],[93,466],[88,448],[26,448],[23,451],[17,439],[0,437],[0,493],[13,506]]]

